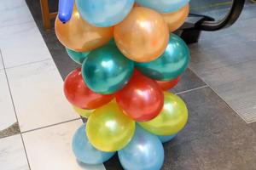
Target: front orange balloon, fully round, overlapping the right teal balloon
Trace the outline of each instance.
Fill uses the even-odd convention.
[[[127,58],[148,62],[164,53],[169,30],[161,14],[150,8],[135,7],[125,20],[114,26],[113,37]]]

